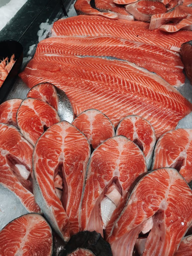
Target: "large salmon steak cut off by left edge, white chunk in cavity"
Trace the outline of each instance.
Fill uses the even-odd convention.
[[[0,184],[12,191],[28,212],[40,212],[32,183],[33,146],[17,128],[0,124]]]

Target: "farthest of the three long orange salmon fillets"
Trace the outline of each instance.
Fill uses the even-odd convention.
[[[59,19],[53,24],[57,36],[114,36],[132,41],[158,45],[179,51],[182,43],[191,40],[191,31],[167,34],[159,29],[149,30],[149,24],[139,21],[110,20],[100,16],[79,15]]]

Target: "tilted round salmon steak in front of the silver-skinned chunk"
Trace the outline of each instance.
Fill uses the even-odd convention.
[[[60,121],[57,111],[42,100],[27,98],[17,111],[20,132],[33,146],[49,126]]]

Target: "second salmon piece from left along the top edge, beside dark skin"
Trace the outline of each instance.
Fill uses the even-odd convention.
[[[102,12],[116,13],[119,19],[134,20],[134,17],[126,12],[124,6],[115,4],[113,0],[95,0],[95,6]]]

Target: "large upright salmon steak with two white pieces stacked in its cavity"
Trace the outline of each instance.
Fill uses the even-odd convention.
[[[134,180],[146,172],[142,151],[124,136],[109,138],[92,153],[81,208],[82,230],[103,229],[113,223],[125,204]]]

